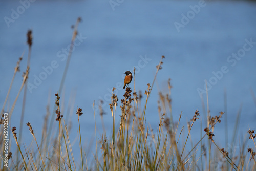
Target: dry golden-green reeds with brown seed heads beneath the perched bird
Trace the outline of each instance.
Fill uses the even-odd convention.
[[[72,42],[75,40],[77,25],[80,21],[81,18],[78,18],[72,36]],[[28,45],[30,49],[29,51],[31,51],[32,31],[28,32]],[[157,122],[157,131],[153,131],[151,124],[156,124],[156,122],[146,122],[146,117],[152,114],[148,109],[147,102],[154,87],[157,74],[163,68],[162,60],[165,58],[164,56],[161,57],[159,64],[156,66],[157,70],[152,83],[145,83],[145,97],[143,97],[142,91],[137,92],[135,89],[136,75],[134,68],[134,88],[127,87],[125,89],[123,98],[120,100],[121,113],[118,114],[116,113],[116,109],[118,107],[117,102],[119,99],[115,94],[115,88],[112,89],[111,103],[109,104],[112,116],[110,136],[108,136],[109,132],[105,130],[103,117],[111,116],[104,115],[108,112],[105,112],[101,105],[99,106],[102,127],[104,130],[102,134],[98,135],[96,131],[96,114],[94,112],[95,149],[91,148],[91,152],[93,153],[91,153],[92,155],[89,158],[92,162],[88,165],[88,154],[84,151],[83,147],[83,144],[87,144],[88,142],[83,141],[84,137],[82,137],[81,133],[84,130],[81,130],[80,128],[80,117],[83,117],[82,109],[77,108],[76,110],[78,116],[76,129],[79,130],[77,135],[79,147],[73,145],[73,142],[70,140],[70,123],[67,124],[65,122],[65,119],[63,118],[63,113],[65,112],[60,110],[62,109],[60,108],[60,93],[66,78],[71,52],[69,53],[68,58],[60,89],[58,93],[55,94],[55,122],[54,119],[49,120],[50,112],[48,106],[45,121],[42,126],[41,140],[38,140],[38,136],[40,135],[35,135],[31,123],[28,122],[27,126],[29,129],[27,131],[29,131],[33,137],[31,145],[28,147],[26,144],[23,144],[21,138],[17,138],[18,134],[16,133],[16,127],[13,127],[12,130],[9,128],[17,145],[17,151],[13,154],[11,151],[15,150],[11,149],[10,143],[8,144],[10,149],[8,153],[8,161],[10,162],[8,167],[0,163],[1,170],[255,170],[256,152],[253,147],[248,147],[248,153],[246,155],[246,141],[240,144],[241,147],[238,153],[221,147],[221,145],[215,141],[216,137],[223,136],[215,132],[215,127],[221,122],[224,112],[220,112],[219,115],[211,117],[208,109],[207,120],[205,120],[207,127],[201,129],[201,137],[199,139],[194,139],[191,135],[191,132],[195,127],[194,125],[202,125],[203,122],[201,119],[201,122],[199,123],[198,120],[201,115],[198,110],[195,110],[194,115],[191,114],[191,119],[187,123],[187,133],[185,132],[186,129],[184,126],[180,125],[182,113],[178,117],[173,117],[171,98],[172,84],[170,83],[170,79],[168,79],[166,85],[168,87],[168,92],[159,92],[159,100],[156,100],[159,121]],[[17,66],[15,67],[14,77],[16,72],[19,71],[21,60],[22,57],[19,58]],[[26,84],[29,66],[28,63],[20,90]],[[8,99],[12,82],[6,100]],[[10,118],[20,90],[9,112]],[[145,98],[144,104],[141,104],[142,98]],[[3,112],[6,100],[1,110],[0,142],[3,142],[5,139]],[[100,102],[100,104],[102,103],[103,102]],[[55,123],[58,124],[58,126],[56,126]],[[20,128],[20,130],[22,130],[22,125]],[[249,140],[252,140],[256,148],[254,141],[256,135],[254,130],[249,129],[248,134]],[[184,141],[181,141],[181,137],[185,137]],[[12,139],[12,137],[10,137],[10,139]],[[188,146],[189,140],[191,144],[190,146]],[[35,142],[36,146],[33,142]],[[100,146],[100,148],[98,148],[98,146]],[[73,154],[74,148],[79,149],[79,156]],[[101,153],[98,153],[98,149],[100,149]],[[3,159],[4,146],[2,146],[0,154]],[[15,156],[16,159],[13,156]]]

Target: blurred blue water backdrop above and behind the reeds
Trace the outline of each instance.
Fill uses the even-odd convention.
[[[206,80],[211,115],[225,112],[215,129],[215,139],[221,146],[227,146],[232,140],[238,114],[238,130],[235,130],[239,135],[237,138],[248,136],[248,126],[251,130],[256,129],[255,8],[254,1],[1,1],[1,108],[16,62],[24,52],[20,72],[14,80],[5,111],[10,110],[22,84],[28,56],[26,33],[32,29],[28,78],[31,87],[27,91],[25,136],[22,142],[29,144],[33,139],[25,126],[27,122],[31,123],[35,135],[39,134],[40,138],[46,106],[49,105],[51,114],[55,107],[54,94],[59,90],[67,62],[72,25],[81,17],[60,95],[61,113],[67,119],[66,124],[70,121],[68,124],[72,125],[70,139],[77,138],[76,109],[82,108],[84,115],[80,117],[80,123],[84,130],[83,143],[87,149],[89,144],[94,144],[93,103],[97,133],[100,135],[102,124],[98,105],[101,100],[107,136],[110,136],[112,115],[109,103],[112,88],[117,88],[115,94],[120,106],[125,92],[122,89],[123,73],[132,72],[135,67],[135,88],[143,94],[147,83],[152,83],[156,66],[164,55],[163,68],[157,75],[148,101],[146,122],[156,133],[159,123],[158,93],[168,93],[167,81],[171,78],[174,121],[178,121],[182,112],[180,128],[186,128],[186,122],[198,110],[202,126],[205,127],[203,113],[207,108],[202,104],[206,105]],[[134,90],[134,82],[130,87]],[[12,127],[19,127],[22,101],[23,91],[11,117]],[[142,105],[144,102],[145,95]],[[116,111],[117,125],[120,119],[119,106]],[[57,129],[56,121],[53,124]],[[228,127],[228,141],[224,141],[225,126]],[[191,134],[199,137],[201,131],[200,122],[196,122]],[[195,139],[195,143],[198,140]],[[75,144],[78,145],[77,140]],[[78,152],[79,148],[75,150]],[[87,151],[89,154],[92,152],[95,152],[95,148]]]

